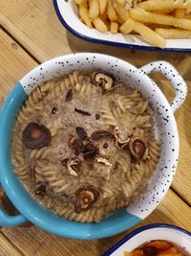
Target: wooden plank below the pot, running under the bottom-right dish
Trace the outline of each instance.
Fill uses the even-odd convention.
[[[171,223],[191,231],[190,207],[174,192],[169,190],[158,209],[136,227],[153,222]],[[89,256],[90,252],[93,256],[99,256],[113,244],[116,244],[130,230],[112,238],[96,241],[77,241],[58,238],[35,226],[28,229],[22,227],[3,228],[3,232],[27,256]]]

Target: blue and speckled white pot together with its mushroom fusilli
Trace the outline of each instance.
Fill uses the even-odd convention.
[[[169,104],[147,74],[175,88]],[[19,81],[1,108],[0,183],[21,215],[55,235],[98,239],[145,219],[179,158],[173,112],[187,87],[175,68],[111,56],[53,58]]]

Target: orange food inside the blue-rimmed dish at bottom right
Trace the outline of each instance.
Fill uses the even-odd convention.
[[[180,246],[163,240],[155,240],[142,244],[131,252],[124,252],[124,256],[188,256]]]

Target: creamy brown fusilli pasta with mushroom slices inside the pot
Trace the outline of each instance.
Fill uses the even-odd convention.
[[[40,84],[19,111],[14,172],[56,215],[101,221],[145,191],[160,143],[151,106],[127,85],[75,70]]]

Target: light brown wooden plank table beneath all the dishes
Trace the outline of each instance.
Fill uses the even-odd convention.
[[[56,56],[99,52],[123,58],[136,66],[152,60],[170,61],[191,89],[191,56],[185,54],[135,52],[87,43],[67,32],[58,21],[52,0],[0,0],[0,97],[39,63]],[[173,92],[168,82],[153,76],[168,99]],[[191,93],[176,113],[180,132],[180,161],[171,189],[143,225],[165,222],[191,231]],[[134,227],[137,228],[138,226]],[[55,237],[39,228],[1,228],[0,255],[101,255],[130,232],[96,241],[76,241]]]

